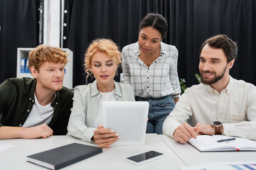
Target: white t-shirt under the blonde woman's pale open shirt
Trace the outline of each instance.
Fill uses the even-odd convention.
[[[107,93],[100,92],[101,96],[99,99],[100,108],[97,115],[97,118],[95,120],[94,128],[97,128],[99,125],[103,124],[103,111],[102,111],[102,102],[103,101],[117,101],[117,98],[114,98],[114,90]]]

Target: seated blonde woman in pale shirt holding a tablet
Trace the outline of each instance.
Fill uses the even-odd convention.
[[[87,77],[95,77],[92,84],[76,86],[68,133],[98,147],[107,147],[121,136],[102,126],[103,101],[134,101],[132,87],[114,81],[121,53],[112,40],[92,41],[85,55]]]

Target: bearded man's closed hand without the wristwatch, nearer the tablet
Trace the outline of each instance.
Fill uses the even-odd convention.
[[[192,137],[196,139],[196,130],[188,123],[182,123],[174,132],[174,140],[177,142],[186,143]]]

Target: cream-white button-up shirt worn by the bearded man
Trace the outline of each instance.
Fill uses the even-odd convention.
[[[198,84],[188,88],[166,118],[163,132],[174,137],[183,122],[223,123],[223,134],[256,140],[256,87],[230,77],[228,86],[218,94],[211,86]]]

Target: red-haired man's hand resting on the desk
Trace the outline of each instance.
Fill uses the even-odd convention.
[[[48,127],[48,125],[43,124],[43,125],[37,125],[31,128],[24,128],[22,130],[22,138],[25,139],[33,139],[33,138],[46,138],[51,135],[53,135],[53,130]]]

